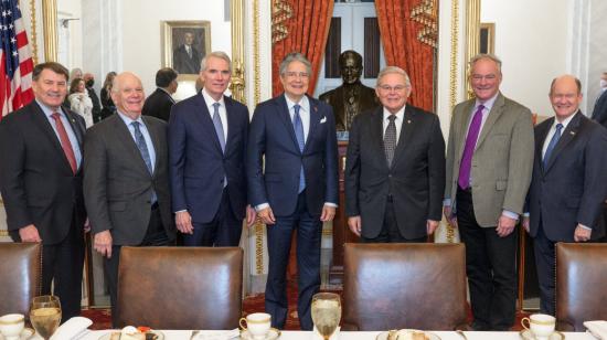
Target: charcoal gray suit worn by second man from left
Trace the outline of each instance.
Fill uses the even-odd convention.
[[[111,257],[104,261],[111,316],[117,326],[120,247],[167,245],[175,237],[169,191],[167,124],[141,119],[150,135],[156,163],[150,174],[125,121],[114,114],[88,129],[84,142],[84,196],[93,233],[109,231]],[[152,191],[158,204],[152,204]]]

